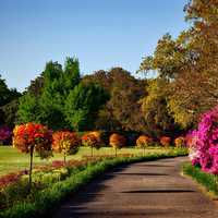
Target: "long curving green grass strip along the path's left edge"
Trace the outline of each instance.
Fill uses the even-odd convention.
[[[78,191],[80,187],[89,183],[97,175],[120,165],[128,165],[138,161],[149,161],[159,158],[169,158],[186,155],[185,149],[172,149],[162,154],[147,154],[141,157],[118,157],[101,160],[97,164],[88,165],[84,170],[71,175],[64,181],[51,184],[48,189],[35,193],[34,201],[20,202],[10,209],[0,213],[4,218],[31,218],[43,217],[52,211],[69,194]]]

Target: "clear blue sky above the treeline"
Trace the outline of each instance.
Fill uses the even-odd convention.
[[[0,0],[0,74],[23,90],[49,60],[76,56],[82,73],[134,73],[166,33],[187,28],[187,0]]]

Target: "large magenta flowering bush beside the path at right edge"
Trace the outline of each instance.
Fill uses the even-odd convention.
[[[202,116],[197,130],[186,135],[186,143],[192,164],[218,174],[218,106]]]

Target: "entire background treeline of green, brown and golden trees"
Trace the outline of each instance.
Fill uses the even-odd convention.
[[[178,136],[218,101],[218,0],[192,0],[185,8],[191,27],[177,38],[164,35],[138,72],[121,68],[81,76],[78,60],[48,62],[23,93],[0,78],[0,122],[40,122],[55,130],[132,131],[153,137]]]

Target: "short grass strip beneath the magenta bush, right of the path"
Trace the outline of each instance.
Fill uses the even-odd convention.
[[[199,167],[191,164],[183,165],[183,173],[191,175],[196,182],[202,184],[206,191],[218,196],[218,175],[203,172]]]

